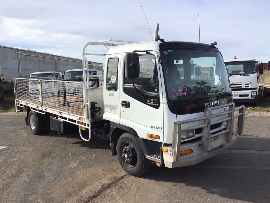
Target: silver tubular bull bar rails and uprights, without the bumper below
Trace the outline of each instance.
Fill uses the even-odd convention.
[[[215,109],[222,109],[229,107],[227,111],[212,114],[212,111]],[[235,111],[239,111],[239,113],[234,114]],[[219,119],[217,121],[211,122],[211,119],[217,116],[221,115],[228,115],[227,118]],[[234,118],[238,117],[238,132],[239,135],[243,133],[243,127],[244,127],[244,114],[245,114],[245,107],[240,106],[235,108],[234,103],[229,103],[221,106],[211,107],[211,108],[205,108],[205,115],[203,117],[194,118],[194,119],[188,119],[184,121],[175,121],[174,127],[173,127],[173,141],[172,141],[172,149],[173,149],[173,161],[179,159],[179,152],[180,152],[180,145],[181,145],[181,132],[188,131],[188,130],[195,130],[197,128],[202,128],[202,141],[203,141],[203,147],[204,151],[208,150],[209,147],[209,141],[211,138],[225,134],[227,133],[227,142],[232,141],[232,135],[233,135],[233,128],[234,128]],[[203,124],[198,126],[192,126],[188,128],[181,128],[182,124],[190,123],[190,122],[196,122],[196,121],[203,121]],[[225,130],[222,130],[221,132],[217,132],[214,134],[210,134],[210,127],[211,125],[227,121],[227,126]]]

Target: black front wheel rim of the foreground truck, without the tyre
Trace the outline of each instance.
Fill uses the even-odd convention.
[[[124,143],[122,145],[122,158],[130,168],[136,166],[138,161],[137,152],[130,143]]]

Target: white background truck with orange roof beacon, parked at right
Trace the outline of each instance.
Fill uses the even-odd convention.
[[[258,98],[259,74],[263,74],[263,64],[256,59],[224,60],[228,71],[234,102],[256,105]]]

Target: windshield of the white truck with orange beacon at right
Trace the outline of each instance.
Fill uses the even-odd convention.
[[[229,75],[252,74],[257,72],[256,61],[230,61],[225,62]]]

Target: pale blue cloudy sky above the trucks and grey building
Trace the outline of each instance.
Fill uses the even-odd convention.
[[[82,59],[82,48],[90,41],[153,41],[159,23],[162,39],[207,44],[217,41],[224,60],[237,56],[267,63],[269,8],[269,0],[1,0],[0,45]],[[104,48],[94,49],[88,52],[106,53]],[[101,57],[88,60],[104,62]]]

